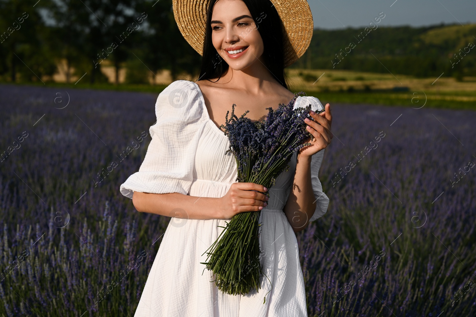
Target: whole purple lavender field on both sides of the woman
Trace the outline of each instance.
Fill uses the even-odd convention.
[[[156,98],[0,85],[0,316],[133,316],[170,218],[119,185]],[[476,112],[332,106],[309,316],[476,316]]]

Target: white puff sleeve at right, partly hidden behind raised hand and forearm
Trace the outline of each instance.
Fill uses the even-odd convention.
[[[324,109],[324,106],[321,104],[319,99],[315,97],[307,97],[307,96],[301,97],[299,99],[299,103],[295,104],[294,108],[305,107],[308,104],[311,104],[311,109],[313,111]],[[329,198],[322,191],[322,184],[318,178],[319,169],[321,167],[323,157],[324,157],[324,149],[320,150],[319,152],[317,152],[311,157],[311,183],[312,183],[312,191],[314,192],[314,196],[316,198],[316,210],[314,211],[314,214],[309,219],[309,221],[314,221],[317,218],[322,217],[327,212],[327,207],[329,205]]]

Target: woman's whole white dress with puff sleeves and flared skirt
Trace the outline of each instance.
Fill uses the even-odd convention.
[[[309,103],[313,110],[323,109],[318,99],[301,96],[295,108]],[[159,94],[155,109],[157,122],[150,127],[152,140],[147,154],[139,172],[120,186],[121,193],[129,198],[133,191],[223,197],[236,182],[236,161],[233,154],[224,154],[229,146],[228,137],[208,116],[198,85],[187,80],[171,83]],[[317,152],[311,159],[317,205],[310,221],[326,213],[329,201],[317,178],[323,152]],[[226,226],[226,219],[171,218],[134,316],[306,317],[297,239],[283,212],[296,171],[296,158],[297,152],[289,170],[281,173],[276,185],[269,189],[268,206],[262,209],[259,219],[263,224],[259,236],[261,263],[272,283],[265,304],[264,296],[271,289],[268,278],[260,278],[258,293],[228,295],[213,286],[211,272],[200,264],[207,262],[207,255],[202,254],[223,230],[218,226]],[[183,209],[172,211],[187,217]]]

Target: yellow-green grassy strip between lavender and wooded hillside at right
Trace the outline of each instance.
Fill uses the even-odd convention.
[[[415,78],[333,69],[288,69],[292,91],[321,102],[476,110],[476,77]]]

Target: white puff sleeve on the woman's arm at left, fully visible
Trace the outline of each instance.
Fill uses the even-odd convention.
[[[159,94],[157,122],[149,129],[152,140],[139,171],[120,186],[122,195],[189,193],[198,140],[205,127],[199,96],[187,80],[174,81]]]

